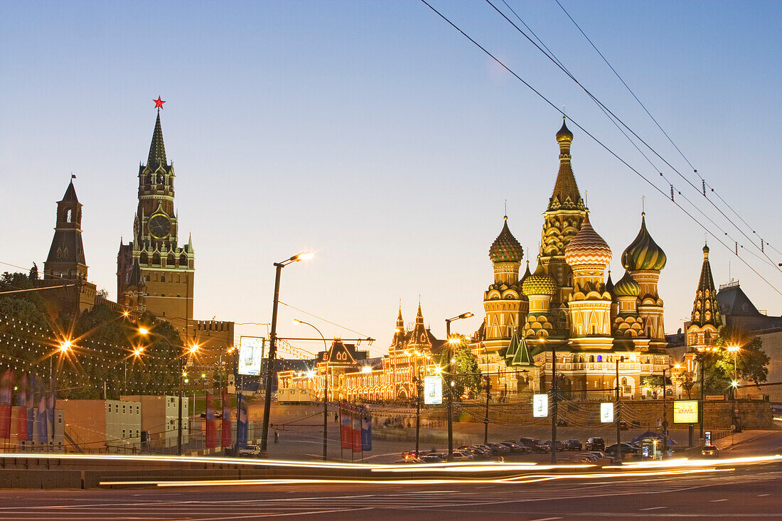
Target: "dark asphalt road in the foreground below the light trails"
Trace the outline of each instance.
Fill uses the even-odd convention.
[[[536,483],[2,490],[0,519],[777,519],[782,465]]]

